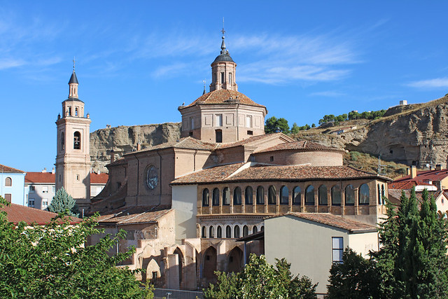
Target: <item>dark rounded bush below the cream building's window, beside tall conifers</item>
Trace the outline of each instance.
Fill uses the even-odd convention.
[[[380,280],[373,260],[367,260],[347,248],[342,263],[333,263],[325,298],[381,298]]]

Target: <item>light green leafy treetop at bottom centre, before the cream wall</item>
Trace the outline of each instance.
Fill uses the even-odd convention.
[[[265,256],[251,254],[249,263],[239,273],[217,271],[218,282],[204,290],[206,299],[303,298],[316,297],[316,286],[308,277],[293,276],[290,263],[276,260],[276,267]]]

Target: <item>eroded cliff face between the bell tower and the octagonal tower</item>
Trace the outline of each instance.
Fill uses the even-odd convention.
[[[92,169],[107,172],[106,165],[111,162],[111,150],[115,160],[123,154],[151,148],[168,141],[181,138],[181,123],[162,123],[160,125],[133,125],[99,129],[90,133],[90,159]]]

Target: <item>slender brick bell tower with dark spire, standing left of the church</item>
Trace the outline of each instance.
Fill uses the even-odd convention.
[[[78,78],[73,60],[69,97],[57,116],[56,190],[61,187],[78,207],[90,206],[90,116],[84,117],[84,102],[78,99]]]

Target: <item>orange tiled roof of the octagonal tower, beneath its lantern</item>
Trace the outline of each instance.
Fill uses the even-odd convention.
[[[205,95],[198,97],[193,103],[188,106],[181,106],[179,109],[184,109],[195,105],[209,105],[209,104],[244,104],[249,106],[265,107],[257,104],[249,99],[246,95],[235,90],[214,90],[207,92]]]

